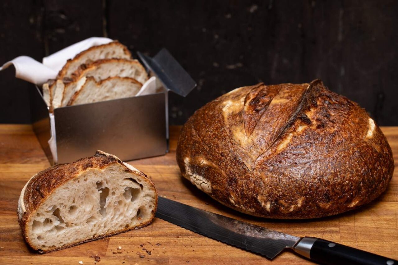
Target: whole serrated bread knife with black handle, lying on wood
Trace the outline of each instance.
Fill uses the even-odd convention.
[[[269,259],[284,249],[321,264],[398,265],[398,261],[313,237],[297,237],[159,197],[156,217]]]

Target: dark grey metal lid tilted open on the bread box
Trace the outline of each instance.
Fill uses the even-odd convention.
[[[185,97],[196,87],[196,82],[165,48],[161,49],[153,58],[140,52],[137,54],[146,68],[162,81],[167,90]]]

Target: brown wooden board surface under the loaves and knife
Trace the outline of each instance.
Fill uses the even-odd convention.
[[[398,175],[373,203],[351,212],[316,220],[271,220],[241,214],[213,201],[181,178],[175,150],[181,127],[170,128],[166,156],[129,162],[154,181],[159,195],[194,207],[265,226],[295,236],[315,236],[398,259]],[[384,127],[398,161],[398,127]],[[106,151],[106,150],[104,150]],[[30,125],[0,125],[0,264],[304,264],[290,251],[273,261],[195,234],[164,220],[140,230],[88,242],[54,253],[38,254],[25,244],[16,208],[29,178],[49,167]],[[121,249],[118,249],[119,246]],[[145,250],[148,250],[146,252]],[[150,253],[150,254],[149,254]],[[143,257],[144,256],[144,257]]]

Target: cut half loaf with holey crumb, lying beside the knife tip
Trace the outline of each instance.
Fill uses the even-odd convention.
[[[21,191],[17,214],[27,244],[43,253],[144,227],[157,202],[144,173],[97,151],[34,175]]]

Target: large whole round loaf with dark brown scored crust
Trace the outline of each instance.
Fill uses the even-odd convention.
[[[373,119],[320,80],[246,86],[211,101],[185,123],[177,162],[220,203],[288,219],[358,208],[394,171]]]

